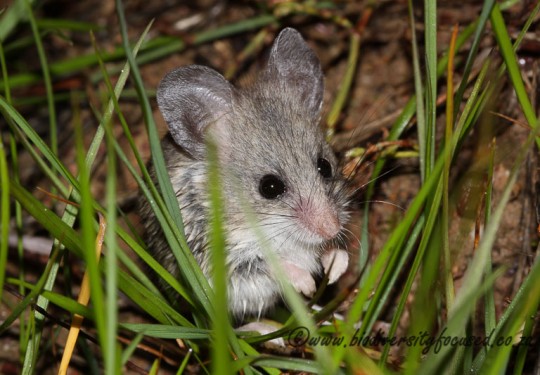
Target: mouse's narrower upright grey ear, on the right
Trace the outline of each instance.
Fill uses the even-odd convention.
[[[283,29],[272,46],[266,79],[284,84],[313,113],[319,113],[324,95],[321,63],[298,31]]]

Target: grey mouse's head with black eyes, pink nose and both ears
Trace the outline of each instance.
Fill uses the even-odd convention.
[[[236,90],[202,66],[177,69],[160,84],[158,103],[175,142],[205,160],[205,142],[215,140],[227,224],[238,240],[251,232],[244,198],[277,248],[319,248],[341,232],[347,195],[319,127],[323,92],[319,60],[290,28],[249,89]]]

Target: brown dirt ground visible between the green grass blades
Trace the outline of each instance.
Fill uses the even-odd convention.
[[[366,1],[339,2],[333,14],[347,18],[353,22],[366,14]],[[218,26],[234,23],[243,19],[253,18],[261,14],[264,9],[274,6],[274,2],[225,2],[215,0],[205,1],[125,1],[125,13],[129,25],[129,32],[132,40],[136,40],[148,23],[154,19],[154,24],[149,34],[149,38],[157,36],[175,36],[190,40],[190,36],[200,31],[213,29]],[[526,17],[534,6],[532,1],[520,2],[509,10],[504,16],[511,36],[515,38],[523,26]],[[439,1],[438,2],[438,46],[440,53],[443,53],[449,44],[452,27],[458,25],[463,29],[474,21],[480,12],[481,1]],[[0,2],[1,7],[1,2]],[[421,7],[418,6],[418,9]],[[115,47],[121,45],[117,15],[113,1],[78,1],[68,0],[47,0],[40,2],[36,8],[38,18],[64,18],[77,20],[80,22],[90,22],[100,26],[95,33],[97,44],[103,51],[113,51]],[[415,14],[417,23],[416,31],[422,38],[423,15],[421,11]],[[537,20],[538,21],[538,20]],[[208,65],[215,70],[229,75],[233,82],[239,85],[246,84],[250,77],[253,77],[264,62],[264,51],[267,51],[273,38],[283,26],[297,28],[308,41],[310,46],[316,51],[322,62],[322,67],[326,76],[325,87],[325,113],[328,113],[329,103],[335,97],[339,84],[347,68],[348,55],[348,34],[346,30],[338,26],[335,22],[324,17],[294,15],[284,18],[281,25],[271,25],[267,27],[267,35],[264,43],[259,47],[263,49],[257,53],[256,57],[250,56],[245,60],[239,58],[243,48],[254,38],[256,31],[239,33],[224,39],[205,43],[201,45],[191,45],[180,53],[174,53],[165,58],[152,61],[141,66],[141,72],[149,90],[155,90],[161,78],[171,69],[187,64]],[[92,53],[93,48],[88,33],[66,32],[67,34],[50,33],[44,36],[43,41],[47,56],[51,61],[61,61],[68,57],[81,56]],[[26,24],[20,25],[11,35],[9,41],[17,40],[23,36],[29,36],[29,27]],[[344,161],[351,162],[347,156],[347,151],[354,147],[369,147],[385,140],[392,123],[399,116],[408,100],[414,94],[413,69],[411,58],[411,30],[409,25],[407,1],[381,1],[373,8],[366,27],[361,35],[361,50],[356,79],[354,80],[348,104],[341,114],[336,135],[332,145],[338,156]],[[522,48],[519,50],[519,61],[524,78],[533,103],[538,109],[538,79],[540,78],[540,28],[538,22],[531,27],[526,35]],[[496,43],[491,35],[486,35],[480,45],[480,56],[488,56]],[[465,59],[468,51],[467,46],[458,54],[458,60]],[[422,51],[421,51],[422,53]],[[496,54],[492,54],[496,56]],[[495,57],[497,59],[498,57]],[[10,56],[8,61],[15,61],[16,64],[10,66],[11,73],[36,72],[39,73],[39,61],[35,58],[35,50],[32,48],[19,49],[16,55]],[[480,62],[479,62],[480,63]],[[120,65],[122,61],[111,62],[110,64]],[[475,65],[473,72],[478,72],[479,64]],[[98,86],[91,80],[92,74],[98,70],[97,67],[90,67],[77,74],[66,74],[55,79],[54,85],[59,91],[81,90],[89,98],[88,106],[83,107],[81,113],[84,121],[87,141],[90,142],[98,125],[92,115],[91,105],[99,103]],[[459,73],[459,70],[458,72]],[[473,73],[474,74],[474,73]],[[459,76],[456,77],[456,81]],[[444,81],[440,82],[440,98],[445,97]],[[133,86],[128,83],[128,90]],[[15,97],[34,97],[44,93],[42,85],[24,87],[14,92]],[[122,100],[122,108],[127,116],[127,121],[135,136],[139,150],[145,158],[149,157],[149,147],[146,140],[143,118],[140,108],[135,100],[125,98]],[[48,119],[45,104],[25,105],[21,104],[18,109],[29,119],[35,129],[44,137],[47,137]],[[59,119],[60,155],[66,165],[72,171],[75,166],[75,148],[73,131],[71,129],[72,108],[69,100],[60,101],[56,104]],[[154,117],[160,127],[160,134],[166,132],[165,124],[159,114],[155,102],[153,102]],[[444,107],[439,108],[439,113],[444,114]],[[475,167],[482,167],[481,160],[485,150],[480,147],[483,137],[496,136],[497,138],[497,160],[494,175],[494,203],[505,182],[508,179],[512,163],[518,150],[516,144],[522,144],[528,136],[529,130],[511,121],[501,118],[497,114],[503,114],[508,118],[515,119],[516,123],[524,123],[521,109],[516,100],[511,86],[506,81],[501,82],[501,89],[498,98],[493,103],[493,110],[486,115],[483,121],[486,126],[482,129],[489,134],[473,134],[469,137],[468,144],[463,148],[452,171],[453,186],[455,186],[452,200],[456,209],[451,220],[452,256],[454,260],[454,279],[457,286],[460,286],[465,266],[470,260],[475,239],[475,223],[477,212],[481,209],[481,202],[478,199],[479,192],[482,191],[482,172]],[[326,117],[324,117],[326,118]],[[2,124],[3,120],[0,120]],[[440,127],[443,129],[444,116],[439,116]],[[3,125],[2,125],[3,127]],[[410,127],[402,137],[403,149],[414,150],[416,144],[416,132],[414,127]],[[4,135],[4,134],[2,134]],[[126,148],[127,142],[122,140]],[[362,176],[357,177],[356,184],[361,186],[366,182],[371,170],[373,161],[379,153],[371,155],[364,162]],[[104,157],[104,156],[103,156]],[[353,161],[354,162],[354,161]],[[21,155],[20,164],[24,166],[21,171],[21,180],[24,186],[36,187],[47,186],[43,182],[43,176],[34,166],[30,157]],[[96,197],[102,197],[104,193],[104,168],[103,159],[96,163],[97,168],[93,171],[92,190]],[[26,167],[27,166],[27,167]],[[376,255],[388,234],[395,227],[396,223],[404,215],[404,209],[408,207],[411,200],[416,196],[420,186],[419,165],[416,157],[402,157],[391,160],[387,165],[388,172],[380,178],[378,189],[372,200],[382,202],[371,205],[370,211],[370,256]],[[516,184],[510,204],[504,215],[503,223],[497,235],[495,251],[493,253],[493,266],[505,266],[504,275],[496,284],[497,313],[500,314],[508,301],[515,295],[517,288],[523,278],[527,275],[535,259],[536,246],[538,244],[538,233],[536,228],[539,224],[538,191],[540,182],[538,179],[538,154],[531,153],[526,165],[522,168],[519,181]],[[135,199],[138,195],[137,185],[129,173],[121,170],[119,180],[119,201],[120,206],[129,213],[129,217],[136,223],[137,213],[135,212]],[[51,203],[51,198],[35,192],[40,196],[45,204]],[[355,205],[362,207],[362,194],[358,194]],[[358,228],[360,227],[360,215],[354,218],[351,230],[360,237]],[[50,248],[50,240],[43,238],[43,230],[32,220],[25,222],[27,233],[25,236],[36,238],[37,244],[26,249],[25,261],[30,266],[27,269],[29,278],[32,270],[36,271],[34,277],[39,276],[47,260],[47,251]],[[351,251],[356,251],[351,245]],[[17,274],[17,257],[15,250],[10,253],[9,272]],[[356,258],[355,258],[356,259]],[[346,284],[356,277],[355,261],[353,266],[342,283]],[[82,274],[82,269],[75,265],[73,272]],[[29,281],[33,281],[30,279]],[[397,296],[397,292],[396,292]],[[10,297],[13,302],[17,299]],[[122,318],[131,321],[144,320],[137,311],[133,311],[127,301],[122,301]],[[385,326],[392,318],[393,304],[389,306],[383,314],[384,319],[380,325]],[[0,310],[0,320],[8,314],[6,306],[2,305]],[[405,314],[407,315],[407,314]],[[407,316],[404,317],[406,319]],[[405,324],[405,321],[403,322]],[[18,372],[18,343],[15,326],[9,335],[0,337],[0,373],[15,374]],[[53,334],[54,330],[51,330]],[[64,334],[64,333],[62,333]],[[395,353],[399,356],[399,353]],[[51,363],[57,363],[57,359],[49,359]],[[49,363],[48,365],[51,365]],[[47,363],[41,363],[42,368],[46,368]],[[144,358],[138,364],[133,364],[131,371],[134,373],[144,373],[148,364]]]

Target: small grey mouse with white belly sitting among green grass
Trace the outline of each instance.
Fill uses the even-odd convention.
[[[161,146],[186,240],[210,282],[207,142],[216,147],[228,307],[237,320],[271,310],[282,300],[284,283],[310,297],[317,277],[324,273],[335,283],[347,270],[349,255],[342,247],[350,197],[321,127],[323,94],[320,61],[293,28],[279,33],[248,87],[235,87],[209,67],[189,65],[166,74],[157,89],[169,129]],[[140,212],[149,251],[178,276],[146,202]]]

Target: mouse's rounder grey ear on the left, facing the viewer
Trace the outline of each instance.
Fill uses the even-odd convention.
[[[233,86],[213,69],[191,65],[168,73],[157,89],[157,102],[174,141],[192,157],[205,154],[209,125],[226,126]]]

